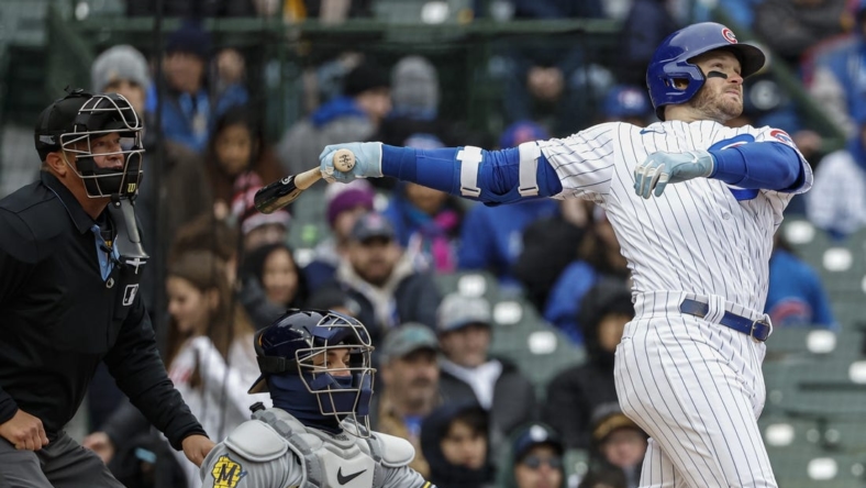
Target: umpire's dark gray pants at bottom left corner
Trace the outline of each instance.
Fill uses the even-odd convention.
[[[0,488],[123,488],[92,451],[60,433],[41,451],[0,437]]]

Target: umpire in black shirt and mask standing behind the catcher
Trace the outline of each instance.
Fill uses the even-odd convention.
[[[122,487],[63,431],[100,361],[192,463],[213,447],[138,293],[141,131],[125,98],[71,91],[36,123],[38,181],[0,200],[0,486]]]

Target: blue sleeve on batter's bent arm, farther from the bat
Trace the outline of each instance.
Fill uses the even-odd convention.
[[[710,154],[715,158],[710,178],[740,188],[791,191],[806,178],[800,155],[787,144],[748,143]]]

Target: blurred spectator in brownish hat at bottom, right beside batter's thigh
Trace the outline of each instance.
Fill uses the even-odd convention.
[[[620,472],[625,488],[637,488],[647,435],[625,417],[618,403],[599,406],[592,414],[590,472]]]

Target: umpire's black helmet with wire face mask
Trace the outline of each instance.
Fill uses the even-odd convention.
[[[93,141],[118,133],[118,147],[96,147]],[[71,90],[46,108],[36,122],[35,145],[42,160],[64,149],[75,154],[70,168],[91,198],[133,197],[142,178],[142,120],[123,96]],[[118,168],[100,167],[98,158],[121,158]]]

